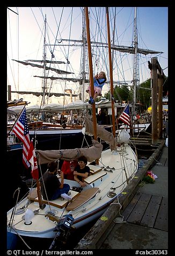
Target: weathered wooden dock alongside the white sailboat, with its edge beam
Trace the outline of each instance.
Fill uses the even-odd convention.
[[[138,186],[150,169],[158,176],[155,183]],[[110,205],[76,248],[167,249],[167,200],[167,147],[162,141],[119,202]]]

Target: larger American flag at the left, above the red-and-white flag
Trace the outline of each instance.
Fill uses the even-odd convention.
[[[27,161],[27,155],[30,147],[30,137],[28,132],[25,108],[21,111],[16,123],[13,126],[12,132],[16,134],[16,136],[23,143],[23,163],[24,163],[24,166],[28,168],[30,167],[30,163]]]

